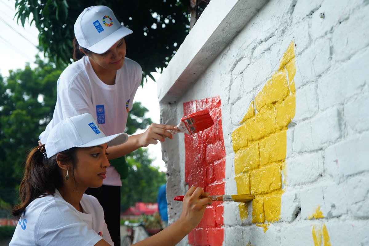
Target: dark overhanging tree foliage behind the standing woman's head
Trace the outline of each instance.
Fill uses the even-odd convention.
[[[127,57],[138,62],[152,79],[150,72],[164,67],[189,32],[190,0],[106,1],[106,0],[16,0],[16,16],[24,26],[31,18],[39,33],[39,46],[45,56],[57,65],[70,63],[74,23],[89,6],[106,5],[118,20],[131,30]],[[32,15],[30,15],[32,14]],[[33,16],[33,17],[31,17]]]

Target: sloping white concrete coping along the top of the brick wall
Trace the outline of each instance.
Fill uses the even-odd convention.
[[[159,102],[180,98],[268,1],[211,1],[159,78]]]

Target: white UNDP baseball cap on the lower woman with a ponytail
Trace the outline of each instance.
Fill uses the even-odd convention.
[[[109,146],[119,145],[128,140],[126,133],[105,136],[90,114],[81,114],[63,119],[50,131],[45,143],[45,158],[56,155],[64,150],[78,147],[92,147],[108,143]]]

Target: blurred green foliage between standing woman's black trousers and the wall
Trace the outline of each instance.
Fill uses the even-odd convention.
[[[166,183],[165,173],[151,166],[147,149],[140,148],[127,156],[128,177],[122,180],[121,211],[135,202],[156,202],[159,187]]]

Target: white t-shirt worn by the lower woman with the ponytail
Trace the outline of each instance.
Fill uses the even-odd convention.
[[[83,194],[80,204],[86,213],[66,202],[58,190],[54,196],[36,198],[19,219],[9,246],[90,246],[102,238],[114,245],[99,201]]]

